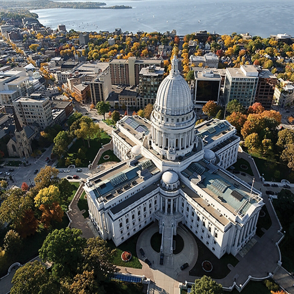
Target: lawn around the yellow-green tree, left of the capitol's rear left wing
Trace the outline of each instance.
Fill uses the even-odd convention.
[[[78,150],[81,148],[85,153],[85,158],[81,160],[82,164],[81,167],[86,167],[89,165],[89,162],[92,163],[94,160],[98,150],[101,148],[102,145],[109,143],[111,140],[110,136],[106,132],[101,132],[100,138],[94,138],[90,140],[90,148],[88,147],[88,142],[83,139],[78,139],[76,142],[69,148],[67,154],[64,158],[59,159],[57,167],[64,168],[67,167],[65,165],[65,160],[68,158],[70,160],[70,164],[76,165],[76,159],[78,158]]]

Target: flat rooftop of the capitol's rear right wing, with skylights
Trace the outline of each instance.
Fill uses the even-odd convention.
[[[203,139],[204,145],[207,145],[225,135],[228,131],[233,130],[234,127],[225,120],[213,118],[209,121],[196,125],[195,129],[198,131],[197,136]]]

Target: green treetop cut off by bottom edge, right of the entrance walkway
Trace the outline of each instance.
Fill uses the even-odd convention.
[[[211,277],[203,275],[201,279],[195,280],[192,285],[191,294],[221,294],[223,288],[221,284],[216,283]]]

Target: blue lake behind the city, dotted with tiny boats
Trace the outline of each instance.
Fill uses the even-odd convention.
[[[75,0],[84,1],[84,0]],[[95,1],[95,0],[91,0]],[[171,31],[185,35],[199,30],[232,32],[268,37],[294,36],[293,0],[141,0],[102,1],[107,6],[129,5],[132,9],[37,9],[39,21],[53,29],[65,24],[67,31]]]

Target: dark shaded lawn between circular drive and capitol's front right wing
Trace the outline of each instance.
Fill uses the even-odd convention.
[[[189,230],[186,226],[185,228]],[[190,231],[191,232],[191,231]],[[203,275],[210,276],[213,279],[222,279],[230,270],[228,268],[228,263],[235,266],[239,261],[232,254],[225,254],[220,259],[218,259],[207,247],[204,245],[192,232],[191,234],[195,238],[198,246],[198,258],[196,264],[189,271],[189,275],[202,277]],[[209,260],[212,263],[213,270],[207,273],[202,268],[202,262],[204,260]],[[184,261],[183,261],[184,263]]]

